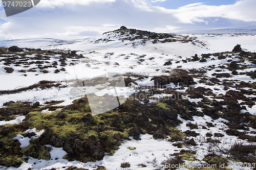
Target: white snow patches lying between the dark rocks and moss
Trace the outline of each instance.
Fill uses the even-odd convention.
[[[182,60],[186,58],[191,58],[191,56],[195,56],[195,54],[207,54],[207,53],[219,53],[231,51],[232,48],[241,44],[244,51],[255,52],[255,44],[256,44],[256,36],[253,34],[193,34],[193,35],[184,35],[189,37],[195,37],[198,41],[193,43],[182,43],[179,41],[176,42],[166,42],[166,43],[152,43],[151,41],[146,41],[144,44],[134,45],[134,41],[130,40],[117,40],[116,37],[108,37],[109,42],[105,41],[96,41],[98,39],[106,38],[106,35],[101,35],[95,38],[84,39],[84,40],[76,40],[76,41],[62,41],[55,39],[29,39],[29,40],[10,40],[10,41],[1,41],[0,46],[9,47],[12,45],[17,45],[19,47],[29,47],[29,48],[41,48],[42,50],[70,50],[77,51],[77,54],[81,54],[83,59],[72,61],[73,59],[68,59],[67,63],[73,62],[74,65],[65,66],[66,71],[60,72],[59,74],[54,73],[55,68],[47,69],[49,71],[48,74],[44,74],[37,70],[36,72],[27,72],[26,77],[23,76],[22,72],[18,72],[20,69],[24,69],[22,66],[15,66],[14,64],[11,67],[14,69],[14,72],[8,74],[4,67],[5,65],[0,63],[0,90],[13,90],[21,87],[27,87],[38,83],[41,80],[51,80],[61,82],[62,85],[68,85],[66,88],[55,88],[52,87],[50,89],[32,89],[23,91],[15,94],[4,94],[0,95],[0,106],[2,106],[5,102],[9,101],[38,101],[40,103],[44,103],[46,101],[64,101],[56,106],[60,105],[69,105],[73,100],[78,99],[77,96],[72,95],[71,89],[74,88],[72,85],[74,80],[86,80],[89,78],[94,78],[105,74],[106,72],[117,72],[119,74],[125,74],[127,72],[133,72],[140,75],[148,76],[149,78],[143,80],[137,80],[136,83],[138,86],[146,85],[153,86],[154,81],[151,81],[151,78],[159,75],[168,75],[164,70],[170,70],[173,68],[177,68],[181,66],[181,69],[206,69],[211,65],[225,65],[229,63],[227,60],[232,59],[236,61],[234,58],[236,56],[229,55],[230,58],[218,60],[218,57],[210,56],[210,58],[206,59],[207,62],[187,62],[184,63]],[[203,42],[205,45],[199,43],[199,41]],[[135,41],[136,44],[136,41]],[[232,58],[233,57],[233,58]],[[215,60],[212,60],[214,58]],[[163,66],[166,61],[172,61],[172,65]],[[58,56],[55,56],[48,60],[49,62],[59,62]],[[30,65],[27,69],[36,67],[36,64]],[[58,67],[60,68],[60,67]],[[211,76],[216,70],[220,68],[216,67],[207,72],[207,76]],[[255,68],[247,68],[247,71],[255,70]],[[228,69],[222,69],[222,72],[227,72],[231,74],[231,71]],[[254,82],[248,76],[237,75],[232,76],[230,78],[220,78],[220,80],[239,80],[244,82]],[[71,81],[72,80],[72,81]],[[194,86],[204,86],[205,88],[210,88],[215,94],[225,94],[226,90],[223,89],[222,85],[209,86],[203,83],[199,83],[200,79],[194,79],[197,84]],[[171,85],[170,86],[175,86]],[[178,86],[176,86],[178,87]],[[81,88],[82,89],[82,88]],[[218,90],[217,90],[218,89]],[[232,89],[232,88],[230,88]],[[82,89],[83,90],[83,89]],[[86,89],[84,89],[85,91]],[[234,89],[236,90],[236,89]],[[127,87],[125,91],[126,95],[129,96],[136,91],[136,88]],[[103,95],[103,93],[113,93],[113,91],[108,89],[100,90],[98,95]],[[118,94],[121,95],[122,93]],[[159,98],[163,97],[164,94],[156,94]],[[153,97],[156,97],[153,96]],[[190,102],[200,102],[201,99],[190,99],[188,96],[186,98]],[[218,100],[218,99],[216,99]],[[200,108],[199,108],[200,109]],[[245,110],[246,111],[246,110]],[[256,114],[255,105],[251,108],[247,107],[247,111],[251,114]],[[19,116],[15,120],[10,121],[1,121],[0,125],[5,124],[16,124],[19,121],[22,121],[25,116]],[[217,119],[212,120],[209,116],[198,117],[194,116],[193,121],[182,120],[182,124],[177,127],[177,129],[185,132],[189,130],[186,126],[186,123],[197,123],[199,129],[195,129],[197,133],[200,133],[204,136],[207,132],[214,133],[223,133],[225,135],[225,144],[223,147],[228,147],[234,141],[237,140],[236,136],[228,136],[225,134],[224,129],[227,127],[223,122],[226,122],[225,119]],[[216,126],[209,128],[209,130],[202,129],[202,126],[205,125],[206,122],[215,122]],[[221,130],[220,130],[221,129]],[[36,130],[32,130],[33,132],[37,132]],[[254,129],[250,129],[250,131],[255,131]],[[246,132],[250,134],[250,131]],[[42,133],[42,131],[37,132],[38,136]],[[254,134],[251,134],[254,135]],[[157,139],[155,140],[152,135],[141,135],[141,140],[134,140],[130,137],[129,140],[124,140],[121,143],[120,149],[116,151],[114,156],[104,156],[103,160],[97,162],[88,162],[81,163],[78,161],[69,162],[68,160],[62,159],[67,153],[63,151],[62,148],[54,148],[50,145],[47,147],[52,148],[51,160],[37,160],[34,158],[29,158],[28,163],[23,163],[18,168],[13,167],[1,167],[1,169],[28,169],[29,167],[32,169],[66,169],[68,166],[77,166],[82,168],[94,169],[96,165],[105,166],[107,169],[123,169],[120,167],[120,163],[122,162],[130,162],[131,167],[129,169],[143,169],[143,167],[138,166],[138,164],[145,164],[145,169],[156,169],[156,165],[160,164],[162,161],[168,158],[169,154],[174,154],[179,152],[181,149],[174,147],[171,142],[167,141],[167,139]],[[191,137],[192,138],[192,137]],[[29,138],[24,138],[21,135],[17,135],[15,139],[18,139],[20,147],[27,147],[29,145]],[[199,137],[194,137],[195,140],[200,140]],[[127,147],[136,148],[135,150],[129,150]],[[200,145],[200,149],[195,155],[197,159],[202,160],[204,155],[207,154],[208,143],[203,143]],[[58,158],[58,159],[56,159]],[[156,158],[156,160],[154,160]],[[186,163],[195,163],[195,162],[186,162]],[[231,167],[236,169],[236,167]],[[248,168],[243,168],[248,169]]]

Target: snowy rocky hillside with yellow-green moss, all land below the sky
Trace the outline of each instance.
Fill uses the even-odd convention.
[[[252,169],[255,44],[124,27],[0,41],[0,168]]]

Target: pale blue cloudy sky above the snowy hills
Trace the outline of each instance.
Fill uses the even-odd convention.
[[[0,40],[83,39],[121,26],[158,33],[252,27],[255,0],[41,0],[6,17],[0,3]]]

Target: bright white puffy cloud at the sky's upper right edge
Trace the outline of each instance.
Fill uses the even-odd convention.
[[[195,3],[171,10],[181,22],[195,23],[205,22],[203,18],[222,17],[241,21],[256,21],[256,1],[242,0],[232,5],[207,6],[203,3]]]

